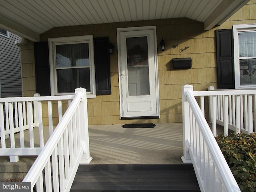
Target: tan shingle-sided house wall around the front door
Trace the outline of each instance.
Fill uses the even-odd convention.
[[[89,124],[125,124],[125,123],[169,123],[182,122],[181,88],[185,84],[194,86],[194,90],[207,90],[208,86],[217,87],[216,69],[216,29],[232,28],[234,24],[256,23],[256,0],[250,1],[221,26],[204,31],[204,24],[187,18],[120,22],[86,26],[54,28],[40,36],[40,41],[48,38],[91,35],[108,36],[117,48],[116,28],[135,26],[156,26],[157,42],[163,38],[166,51],[158,50],[158,75],[160,92],[160,119],[120,120],[118,57],[117,51],[110,55],[110,73],[112,95],[97,96],[88,99]],[[176,46],[176,47],[175,47]],[[184,49],[186,48],[186,49]],[[184,51],[181,51],[184,49]],[[32,42],[21,46],[23,96],[35,93],[34,50]],[[173,70],[172,58],[192,58],[192,68]],[[57,115],[56,115],[57,116]],[[47,124],[47,120],[45,120]]]

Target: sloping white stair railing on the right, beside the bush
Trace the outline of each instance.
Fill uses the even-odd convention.
[[[238,184],[204,118],[204,96],[208,96],[209,93],[214,94],[211,91],[207,93],[195,92],[193,86],[190,85],[182,87],[184,140],[182,160],[183,162],[192,161],[202,192],[240,192]],[[201,96],[201,109],[195,96]],[[216,106],[215,102],[213,106]]]

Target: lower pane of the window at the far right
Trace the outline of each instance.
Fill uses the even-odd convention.
[[[256,84],[256,59],[240,59],[240,84]]]

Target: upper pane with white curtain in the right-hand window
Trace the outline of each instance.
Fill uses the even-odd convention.
[[[256,56],[256,32],[240,32],[239,39],[239,57]]]

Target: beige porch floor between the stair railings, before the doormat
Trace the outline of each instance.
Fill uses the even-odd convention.
[[[182,123],[156,124],[154,128],[91,125],[89,140],[91,164],[182,163]]]

